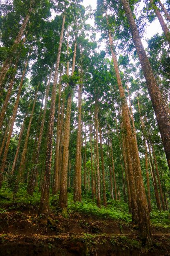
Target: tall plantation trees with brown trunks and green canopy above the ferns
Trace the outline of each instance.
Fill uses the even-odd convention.
[[[0,187],[38,188],[44,218],[51,193],[64,216],[67,192],[123,200],[151,243],[150,212],[170,198],[169,1],[140,15],[140,1],[98,0],[93,14],[81,2],[0,4]],[[163,34],[145,51],[156,17]]]

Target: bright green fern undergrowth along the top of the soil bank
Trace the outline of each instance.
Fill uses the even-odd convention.
[[[26,185],[19,186],[15,194],[13,202],[13,191],[4,182],[0,190],[0,213],[7,211],[10,208],[20,208],[22,205],[27,207],[34,207],[38,209],[40,204],[40,192],[35,189],[33,196],[26,192]],[[60,209],[57,207],[58,195],[50,195],[50,210],[58,214]],[[58,210],[57,210],[58,209]],[[121,220],[130,223],[131,214],[128,212],[128,204],[119,201],[107,200],[107,207],[97,207],[96,199],[92,200],[88,195],[82,195],[82,202],[74,202],[73,193],[68,193],[68,207],[69,214],[77,213],[83,214],[87,217],[92,217],[100,220]],[[152,225],[156,227],[170,228],[170,212],[168,211],[153,211],[150,213]]]

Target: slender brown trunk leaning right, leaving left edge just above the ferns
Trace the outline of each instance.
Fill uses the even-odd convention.
[[[6,142],[6,145],[5,145],[3,159],[2,159],[2,162],[1,162],[1,166],[0,166],[0,188],[2,186],[2,176],[3,176],[3,172],[4,172],[4,168],[5,168],[5,162],[6,162],[6,159],[7,159],[7,152],[8,152],[9,146],[10,146],[10,139],[11,139],[11,135],[12,135],[12,132],[13,132],[13,126],[14,126],[14,123],[15,123],[16,115],[17,115],[17,109],[18,109],[20,94],[21,94],[21,90],[22,90],[22,87],[23,87],[23,81],[24,81],[27,65],[28,65],[28,61],[25,62],[25,68],[23,70],[23,74],[22,74],[21,81],[20,81],[20,86],[19,86],[19,89],[18,89],[17,99],[15,101],[15,105],[14,105],[14,109],[13,109],[13,118],[11,120],[10,130],[9,130],[9,133],[8,133],[8,136],[7,136],[7,142]]]

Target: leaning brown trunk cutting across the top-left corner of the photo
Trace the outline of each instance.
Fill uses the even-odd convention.
[[[34,2],[34,0],[32,0],[31,3],[30,3],[30,8],[28,10],[28,14],[25,16],[25,19],[23,20],[23,24],[20,28],[20,31],[19,31],[17,37],[15,38],[15,41],[13,43],[12,48],[10,49],[10,54],[7,56],[7,58],[6,58],[6,60],[3,64],[3,67],[0,69],[0,87],[2,85],[2,82],[3,82],[4,78],[5,78],[5,75],[7,74],[8,69],[10,68],[10,64],[13,60],[13,57],[15,56],[15,54],[17,52],[18,45],[21,41],[21,38],[23,37],[25,28],[26,28],[26,26],[28,24],[28,21],[30,19],[30,14],[32,13],[32,10],[33,10],[33,8],[32,8],[32,3],[33,2]]]

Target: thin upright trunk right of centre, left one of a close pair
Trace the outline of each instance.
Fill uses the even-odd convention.
[[[95,130],[96,130],[96,160],[97,160],[97,206],[101,208],[100,198],[100,169],[99,169],[99,142],[98,142],[98,106],[95,97]]]

